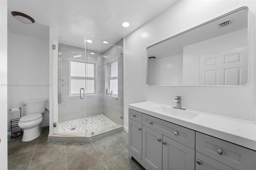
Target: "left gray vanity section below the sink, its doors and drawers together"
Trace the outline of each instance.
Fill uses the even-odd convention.
[[[146,170],[194,170],[194,141],[194,130],[129,109],[129,157]]]

